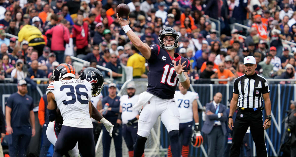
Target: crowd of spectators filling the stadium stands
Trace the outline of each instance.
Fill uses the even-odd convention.
[[[49,78],[58,64],[72,63],[71,55],[90,62],[84,67],[111,69],[117,80],[122,65],[133,67],[134,78],[147,78],[146,61],[118,23],[120,3],[148,45],[159,44],[165,27],[178,31],[175,51],[191,62],[195,83],[242,76],[248,55],[266,78],[295,78],[295,0],[0,0],[0,80]]]

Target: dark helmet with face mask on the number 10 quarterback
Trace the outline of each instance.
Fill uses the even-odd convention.
[[[163,40],[163,38],[166,35],[171,35],[175,39],[165,39],[165,40]],[[172,27],[166,27],[166,28],[164,28],[163,30],[160,31],[160,34],[158,36],[160,47],[163,48],[163,49],[166,49],[166,50],[173,50],[174,48],[177,48],[179,46],[178,39],[179,39],[178,32],[174,28],[172,28]],[[173,41],[173,45],[166,46],[164,44],[165,41]]]

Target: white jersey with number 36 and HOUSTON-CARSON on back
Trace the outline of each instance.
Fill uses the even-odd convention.
[[[46,89],[52,92],[63,117],[63,125],[77,128],[93,128],[89,115],[92,86],[86,80],[54,81]]]

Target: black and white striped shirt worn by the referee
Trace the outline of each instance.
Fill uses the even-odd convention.
[[[238,107],[258,108],[263,104],[263,94],[269,93],[267,80],[258,75],[242,75],[234,81],[233,93],[239,94]]]

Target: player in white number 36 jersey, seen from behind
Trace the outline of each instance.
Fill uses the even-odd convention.
[[[92,73],[94,75],[92,75]],[[75,147],[78,142],[78,149],[82,156],[95,156],[94,134],[91,123],[93,105],[90,102],[91,96],[97,96],[100,89],[93,83],[98,82],[97,76],[91,70],[88,71],[92,80],[86,81],[75,78],[75,69],[70,64],[60,64],[53,72],[52,83],[46,89],[48,106],[47,115],[49,121],[56,119],[57,107],[59,108],[63,126],[57,138],[53,156],[63,156],[68,150]],[[94,80],[96,78],[96,80]],[[92,82],[93,81],[93,82]],[[112,132],[113,125],[105,118],[100,120],[107,131]]]

